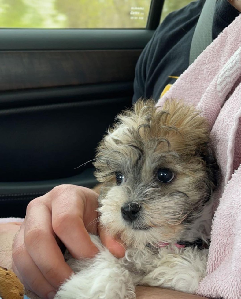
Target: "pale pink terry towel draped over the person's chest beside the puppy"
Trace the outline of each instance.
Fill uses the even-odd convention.
[[[197,294],[241,299],[241,15],[209,45],[159,100],[182,99],[211,126],[220,167],[207,276]]]

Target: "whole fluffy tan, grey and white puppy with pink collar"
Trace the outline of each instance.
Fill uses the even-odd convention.
[[[139,100],[101,141],[95,175],[100,223],[126,244],[117,259],[69,258],[75,274],[55,299],[133,299],[135,286],[195,293],[206,274],[216,167],[206,120],[191,106]]]

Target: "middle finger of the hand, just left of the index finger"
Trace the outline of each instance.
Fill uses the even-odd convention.
[[[24,242],[23,248],[26,247],[26,251],[47,282],[57,289],[61,282],[69,278],[72,270],[57,245],[52,229],[51,211],[41,201],[36,201],[29,209],[31,213],[26,214],[24,236],[21,238]],[[27,259],[26,255],[25,258]],[[21,270],[23,271],[23,268]]]

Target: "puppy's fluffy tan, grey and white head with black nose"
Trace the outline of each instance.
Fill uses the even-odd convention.
[[[214,188],[209,130],[194,108],[139,100],[98,147],[100,221],[132,247],[176,243],[201,217]]]

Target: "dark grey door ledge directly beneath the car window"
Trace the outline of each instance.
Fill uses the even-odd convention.
[[[146,29],[0,29],[0,51],[143,49],[153,33]]]

